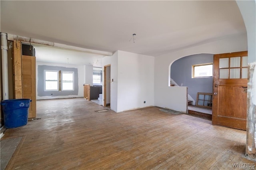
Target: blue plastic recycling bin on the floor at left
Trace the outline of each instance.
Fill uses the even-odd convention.
[[[4,127],[16,128],[27,125],[30,99],[9,99],[1,101],[4,113]]]

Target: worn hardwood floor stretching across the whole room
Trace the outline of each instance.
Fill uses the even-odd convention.
[[[37,101],[37,118],[7,129],[23,136],[6,169],[234,169],[246,131],[149,107],[122,113],[84,98]],[[239,169],[239,168],[238,168]]]

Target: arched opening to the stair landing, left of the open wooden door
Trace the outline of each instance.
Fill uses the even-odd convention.
[[[187,113],[210,121],[212,120],[212,97],[209,95],[212,94],[212,63],[213,54],[200,53],[182,57],[174,61],[170,67],[170,86],[188,87]]]

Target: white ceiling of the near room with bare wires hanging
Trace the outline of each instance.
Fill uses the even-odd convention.
[[[0,3],[1,32],[108,52],[158,56],[246,33],[235,1]]]

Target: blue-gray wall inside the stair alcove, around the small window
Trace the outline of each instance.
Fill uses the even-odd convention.
[[[171,65],[171,78],[179,86],[187,86],[188,94],[196,101],[196,95],[212,93],[212,77],[192,79],[192,65],[213,63],[213,54],[196,54],[182,57]]]

